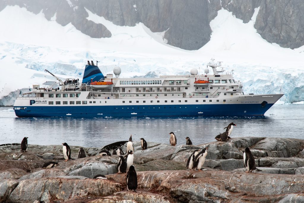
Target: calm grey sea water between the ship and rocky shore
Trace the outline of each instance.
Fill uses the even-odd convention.
[[[231,137],[283,137],[303,139],[304,105],[274,105],[265,117],[168,117],[168,118],[17,118],[12,107],[0,107],[0,144],[29,144],[101,147],[112,142],[144,138],[148,142],[169,143],[171,131],[177,143],[216,141],[223,128],[235,122]]]

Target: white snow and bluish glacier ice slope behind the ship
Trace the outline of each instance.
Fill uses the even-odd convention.
[[[86,19],[102,23],[109,38],[91,38],[71,23],[48,21],[43,12],[34,14],[19,6],[0,12],[0,105],[12,105],[15,90],[55,80],[44,69],[62,78],[82,79],[87,60],[100,61],[104,74],[120,66],[120,77],[151,74],[184,74],[206,67],[211,58],[224,61],[227,71],[244,82],[245,93],[285,93],[281,100],[304,100],[304,46],[282,48],[264,40],[251,20],[244,23],[225,9],[210,22],[210,41],[195,51],[167,44],[164,32],[153,33],[143,23],[117,26],[88,9]],[[153,73],[155,72],[155,73]],[[15,95],[14,93],[15,92]]]

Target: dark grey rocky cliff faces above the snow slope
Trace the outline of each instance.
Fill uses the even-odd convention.
[[[248,23],[254,9],[260,6],[255,28],[264,39],[282,47],[304,45],[301,0],[4,0],[0,2],[0,11],[7,5],[19,5],[35,14],[42,11],[48,20],[56,15],[57,23],[62,26],[72,23],[93,38],[112,34],[104,25],[86,19],[85,8],[120,26],[142,22],[152,32],[166,31],[164,38],[168,44],[186,50],[197,50],[210,40],[209,23],[222,7]]]

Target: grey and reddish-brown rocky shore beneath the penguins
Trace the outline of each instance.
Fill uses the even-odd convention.
[[[170,146],[148,142],[135,146],[137,192],[126,189],[126,173],[117,173],[119,157],[99,156],[101,148],[62,145],[0,145],[0,202],[304,202],[304,140],[232,138],[227,142]],[[203,171],[186,170],[195,149],[208,147]],[[249,147],[262,172],[245,173],[243,150]],[[125,148],[123,148],[125,149]],[[41,168],[47,161],[59,164]],[[92,179],[104,174],[108,180]]]

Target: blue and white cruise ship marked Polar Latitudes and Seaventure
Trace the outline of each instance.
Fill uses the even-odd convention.
[[[209,74],[209,69],[212,74]],[[47,71],[47,70],[46,70]],[[67,79],[61,88],[40,88],[20,94],[17,117],[168,117],[264,116],[283,94],[244,94],[243,84],[224,73],[221,62],[208,63],[204,74],[159,78],[119,78],[121,69],[104,76],[88,61],[83,80]]]

